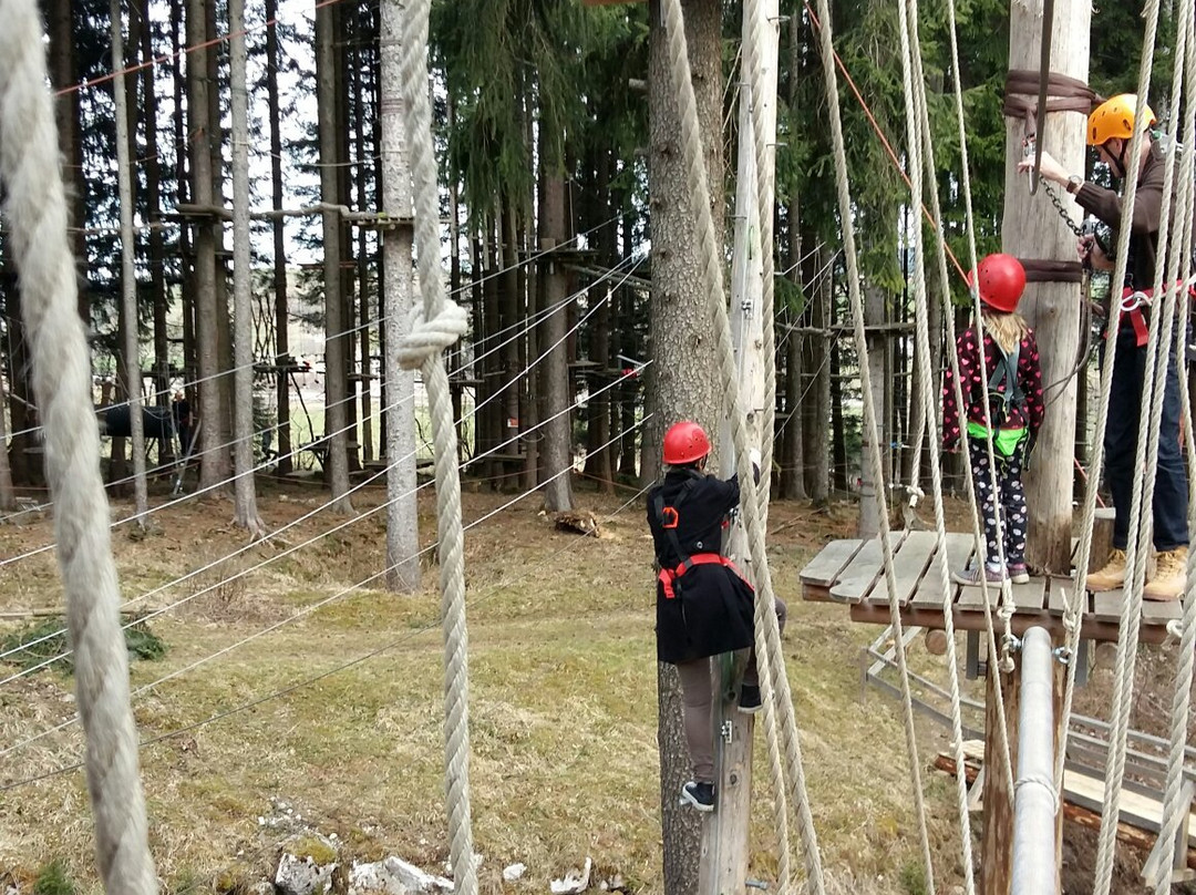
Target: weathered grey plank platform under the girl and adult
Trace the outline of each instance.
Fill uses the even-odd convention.
[[[948,574],[948,596],[956,628],[984,631],[984,603],[980,587],[950,582],[951,572],[965,568],[972,558],[971,535],[948,534],[946,549],[936,549],[933,531],[895,531],[890,535],[893,550],[893,576],[897,602],[903,625],[923,628],[944,627],[942,578],[945,562]],[[801,570],[804,599],[846,603],[852,621],[887,625],[890,622],[889,589],[883,570],[879,538],[869,541],[831,541]],[[1063,631],[1063,609],[1073,592],[1070,578],[1031,578],[1029,584],[1014,584],[1017,611],[1011,621],[1014,634],[1027,628],[1048,628],[1060,641]],[[989,586],[989,599],[1000,599],[1000,589]],[[1116,640],[1124,593],[1121,590],[1085,595],[1081,635],[1092,640]],[[1180,601],[1167,603],[1142,602],[1141,640],[1159,644],[1167,638],[1167,622],[1179,619]]]

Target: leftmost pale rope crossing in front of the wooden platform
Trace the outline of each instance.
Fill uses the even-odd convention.
[[[902,16],[905,14],[904,7],[902,8]],[[860,366],[867,363],[868,346],[867,336],[865,335],[865,321],[864,321],[864,300],[860,294],[860,268],[856,257],[855,248],[855,231],[852,227],[853,218],[853,206],[852,196],[848,187],[848,172],[847,172],[847,151],[843,140],[843,121],[840,112],[838,105],[838,81],[835,72],[835,50],[834,42],[831,37],[831,20],[830,20],[830,8],[826,0],[818,0],[818,17],[822,19],[822,28],[819,29],[820,37],[820,55],[823,63],[823,81],[824,90],[828,101],[828,112],[830,117],[831,126],[831,147],[834,148],[835,156],[835,184],[837,189],[838,197],[838,212],[841,218],[841,224],[843,227],[843,257],[847,264],[847,286],[848,293],[850,296],[852,305],[852,321],[854,324],[854,336],[855,336],[855,349],[859,355]],[[907,29],[903,28],[903,32]],[[907,45],[908,54],[908,45]],[[907,91],[908,96],[908,91]],[[911,182],[914,183],[914,195],[920,196],[922,193],[921,187],[921,154],[916,150],[916,132],[911,132],[911,141],[915,142],[910,151],[910,175]],[[916,178],[916,179],[914,179]],[[925,292],[923,292],[925,298]],[[877,427],[877,413],[875,407],[872,401],[872,390],[862,389],[864,398],[864,432],[865,438],[868,444],[872,445],[872,450],[868,452],[869,461],[872,464],[873,480],[877,482],[884,482],[884,468],[880,457],[880,444],[878,439],[878,427]],[[893,629],[893,638],[897,643],[903,639],[903,625],[901,620],[901,604],[897,599],[897,584],[893,577],[893,558],[892,558],[892,544],[889,540],[889,506],[885,498],[884,488],[877,488],[877,516],[879,518],[879,540],[880,548],[884,555],[884,573],[885,573],[885,587],[889,596],[889,613],[890,623]],[[914,791],[914,808],[915,816],[919,824],[919,835],[922,844],[922,858],[926,863],[926,879],[929,891],[934,893],[934,866],[930,857],[930,844],[929,844],[929,832],[926,826],[926,804],[922,793],[922,768],[921,761],[919,760],[919,748],[917,748],[917,731],[914,726],[914,701],[913,693],[909,682],[909,668],[905,662],[905,651],[897,650],[897,666],[901,671],[902,682],[902,706],[904,710],[904,723],[905,723],[905,745],[909,751],[909,771]]]

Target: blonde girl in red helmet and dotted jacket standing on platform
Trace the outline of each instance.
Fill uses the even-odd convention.
[[[942,446],[952,450],[964,434],[970,439],[972,485],[984,520],[984,561],[957,572],[953,578],[960,584],[978,584],[981,574],[994,583],[1006,577],[1017,584],[1030,580],[1021,470],[1042,426],[1044,406],[1038,343],[1033,330],[1017,313],[1025,286],[1026,272],[1012,255],[989,255],[980,262],[976,290],[981,318],[956,341],[963,408],[956,403],[950,367],[942,379]],[[988,406],[981,377],[988,383]],[[996,494],[988,462],[989,442],[996,459]]]

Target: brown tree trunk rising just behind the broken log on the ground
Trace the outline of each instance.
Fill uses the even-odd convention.
[[[548,171],[541,194],[539,250],[548,251],[565,242],[565,176]],[[541,266],[541,287],[544,296],[544,509],[563,512],[573,509],[573,426],[569,404],[569,365],[565,334],[568,280],[561,261],[545,255]],[[603,308],[606,308],[606,303]],[[605,412],[603,414],[605,416]]]

